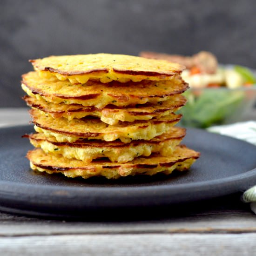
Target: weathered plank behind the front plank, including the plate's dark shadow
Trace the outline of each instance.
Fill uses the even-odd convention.
[[[194,206],[194,208],[193,208]],[[160,212],[161,210],[157,208]],[[0,213],[0,236],[71,235],[71,234],[138,234],[138,233],[243,233],[256,232],[256,215],[248,204],[232,195],[204,204],[187,205],[175,213],[165,209],[164,214],[147,212],[138,219],[103,219],[94,221],[50,220]],[[118,216],[115,213],[113,216]]]

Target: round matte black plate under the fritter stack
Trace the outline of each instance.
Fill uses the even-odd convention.
[[[188,128],[183,140],[202,153],[189,171],[173,175],[70,179],[34,173],[21,135],[32,126],[0,129],[0,209],[35,216],[81,216],[114,209],[155,207],[216,198],[256,184],[256,147]]]

